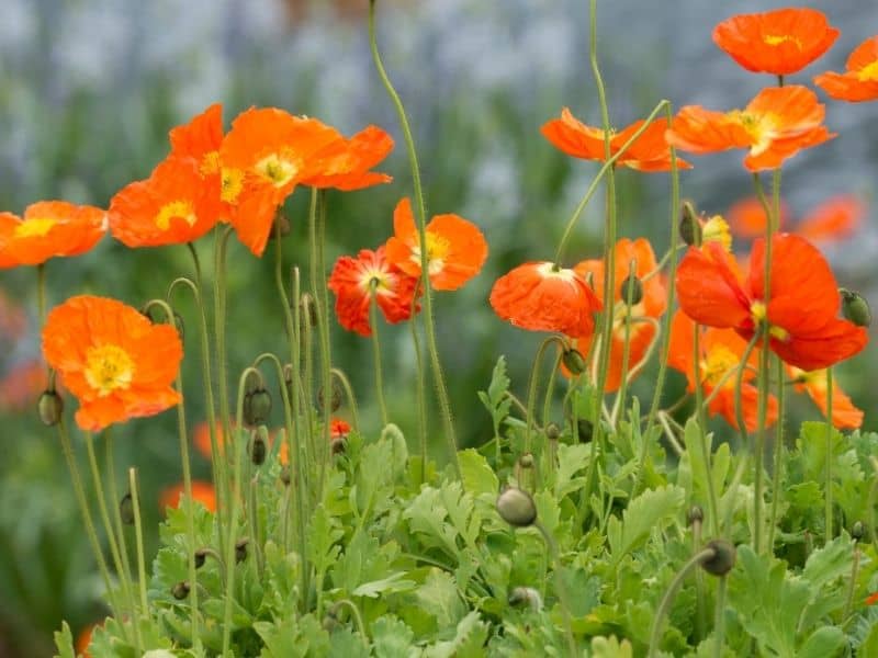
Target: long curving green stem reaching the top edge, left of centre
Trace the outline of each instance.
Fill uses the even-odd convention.
[[[430,354],[430,365],[434,374],[434,384],[436,386],[436,394],[439,401],[439,408],[442,413],[442,424],[444,428],[446,439],[448,441],[449,452],[451,453],[451,463],[454,466],[454,472],[458,479],[461,478],[460,461],[458,460],[458,440],[454,433],[454,421],[451,416],[451,404],[448,397],[448,389],[446,388],[444,378],[442,376],[442,365],[439,362],[439,348],[436,340],[436,321],[432,314],[432,295],[430,294],[430,273],[429,273],[429,254],[426,248],[427,245],[427,212],[424,207],[424,190],[420,184],[420,169],[418,167],[417,151],[415,150],[415,140],[412,136],[412,128],[408,125],[408,117],[405,113],[399,94],[387,77],[384,69],[384,64],[381,61],[381,55],[378,50],[378,42],[375,39],[375,0],[369,0],[369,45],[372,50],[372,59],[375,64],[375,69],[381,78],[384,89],[393,103],[397,115],[399,116],[399,127],[403,131],[406,148],[408,150],[408,161],[412,166],[412,181],[415,189],[415,202],[417,207],[418,220],[418,245],[420,245],[420,281],[424,286],[424,330],[427,338],[427,351]]]

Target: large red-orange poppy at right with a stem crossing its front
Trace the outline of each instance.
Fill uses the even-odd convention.
[[[701,325],[735,329],[746,340],[765,320],[770,349],[806,371],[828,367],[866,345],[863,327],[837,318],[838,287],[815,247],[799,236],[775,235],[768,299],[764,258],[765,241],[756,240],[744,279],[719,245],[690,248],[677,269],[680,308]]]

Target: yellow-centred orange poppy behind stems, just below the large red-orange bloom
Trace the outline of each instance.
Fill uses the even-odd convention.
[[[686,375],[687,390],[695,390],[700,383],[705,397],[712,395],[713,399],[708,405],[711,416],[721,415],[734,429],[738,427],[735,412],[735,386],[741,359],[746,350],[746,341],[732,329],[716,329],[699,327],[698,375],[693,363],[695,356],[695,322],[682,311],[674,314],[671,321],[671,351],[667,364]],[[741,412],[744,417],[744,427],[747,432],[753,432],[758,427],[758,389],[752,384],[756,376],[755,368],[758,364],[758,350],[753,350],[747,359],[747,367],[742,375],[741,384]],[[723,381],[724,377],[724,381]],[[777,420],[777,398],[768,397],[766,410],[766,428]]]

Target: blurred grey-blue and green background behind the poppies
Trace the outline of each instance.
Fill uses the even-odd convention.
[[[423,166],[430,214],[453,212],[481,226],[491,245],[482,274],[454,294],[436,295],[440,352],[461,442],[491,438],[475,392],[485,388],[499,354],[509,360],[524,395],[541,337],[514,330],[486,303],[494,280],[526,260],[549,259],[573,208],[597,170],[553,149],[539,127],[570,106],[598,124],[588,67],[585,0],[380,0],[379,38],[385,65],[407,105]],[[675,106],[741,107],[768,77],[744,72],[711,42],[712,26],[738,12],[784,2],[702,0],[599,7],[599,56],[612,121],[622,127],[661,99]],[[873,0],[810,2],[842,30],[833,49],[790,82],[842,70],[847,54],[878,32]],[[0,2],[0,209],[21,213],[34,201],[66,198],[106,206],[132,180],[146,178],[167,152],[167,133],[221,101],[226,124],[251,105],[277,105],[317,116],[350,135],[378,124],[397,138],[380,168],[391,185],[330,193],[327,258],[375,248],[392,232],[392,211],[410,194],[410,177],[393,109],[369,56],[365,0],[2,0]],[[840,136],[785,167],[784,197],[793,218],[836,195],[863,207],[852,234],[821,246],[840,284],[875,304],[878,248],[873,190],[878,104],[828,102],[826,123]],[[750,195],[742,154],[693,158],[683,193],[709,213],[725,213]],[[286,214],[286,257],[305,263],[306,193]],[[581,222],[571,263],[597,257],[601,245],[596,197]],[[661,256],[668,243],[669,182],[665,174],[619,174],[623,236],[645,236]],[[229,254],[232,372],[256,354],[280,351],[283,324],[270,259],[254,259],[233,241]],[[200,246],[207,258],[210,240]],[[739,242],[739,248],[746,246]],[[89,292],[140,305],[164,297],[168,283],[190,274],[185,249],[132,251],[106,238],[77,259],[48,263],[49,306]],[[76,634],[102,619],[97,575],[54,431],[34,413],[45,385],[40,365],[35,271],[0,272],[0,657],[48,656],[63,619]],[[198,349],[190,299],[177,306],[191,325],[187,348]],[[380,327],[392,418],[414,436],[414,354],[405,326]],[[369,341],[333,329],[337,365],[351,376],[365,428],[378,427],[371,394]],[[866,411],[875,411],[875,349],[837,368],[836,382]],[[187,360],[193,361],[193,360]],[[652,373],[633,393],[649,395]],[[236,376],[236,375],[235,375]],[[184,371],[190,429],[204,418],[198,363]],[[683,392],[671,375],[667,399]],[[72,404],[70,405],[72,406]],[[790,428],[815,418],[807,400],[792,405]],[[432,413],[434,422],[438,417]],[[280,415],[273,419],[280,423]],[[120,477],[140,469],[149,549],[160,519],[158,497],[180,479],[173,413],[116,430]],[[722,420],[714,429],[727,431]],[[78,446],[82,449],[81,444]],[[443,458],[441,445],[436,455]],[[81,456],[81,455],[80,455]],[[195,474],[210,478],[193,456]]]

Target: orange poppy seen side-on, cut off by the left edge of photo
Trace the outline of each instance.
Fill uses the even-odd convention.
[[[106,232],[106,213],[66,201],[29,205],[24,218],[0,213],[0,268],[38,265],[56,256],[79,256]]]

